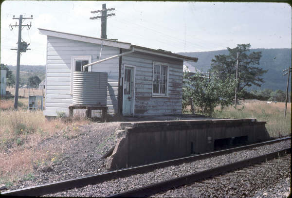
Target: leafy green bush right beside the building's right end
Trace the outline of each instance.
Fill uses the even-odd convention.
[[[232,104],[236,86],[234,76],[221,79],[218,72],[210,72],[211,79],[199,73],[183,73],[183,109],[192,101],[198,113],[211,116],[218,105],[223,109]]]

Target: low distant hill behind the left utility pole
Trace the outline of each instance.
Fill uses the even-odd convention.
[[[8,67],[16,76],[16,66],[8,65]],[[19,84],[27,85],[28,78],[34,75],[37,75],[42,81],[45,78],[45,69],[44,65],[20,65]]]

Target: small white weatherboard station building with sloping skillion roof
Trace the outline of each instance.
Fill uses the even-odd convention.
[[[183,60],[197,62],[198,58],[111,39],[40,28],[39,33],[47,36],[44,115],[69,115],[73,73],[98,60],[103,62],[89,66],[88,72],[108,73],[106,104],[110,114],[182,113]]]

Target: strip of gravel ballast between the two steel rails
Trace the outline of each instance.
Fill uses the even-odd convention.
[[[217,157],[212,157],[204,160],[199,160],[190,163],[183,163],[176,166],[156,169],[152,172],[144,174],[136,174],[126,178],[118,178],[115,180],[105,181],[95,185],[88,185],[82,188],[74,188],[71,190],[49,194],[50,197],[105,197],[112,194],[117,194],[133,188],[142,187],[159,181],[169,180],[194,172],[199,172],[214,168],[220,165],[238,162],[244,159],[256,157],[259,155],[274,152],[276,150],[289,148],[291,140],[282,141],[279,143],[268,144],[256,148],[250,148],[242,151],[237,151],[230,154],[225,154]],[[286,169],[289,172],[290,169]],[[179,196],[181,197],[181,196]]]

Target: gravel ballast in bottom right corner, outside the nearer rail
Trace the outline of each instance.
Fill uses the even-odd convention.
[[[287,158],[286,158],[287,157]],[[151,197],[287,198],[291,155],[168,190]]]

